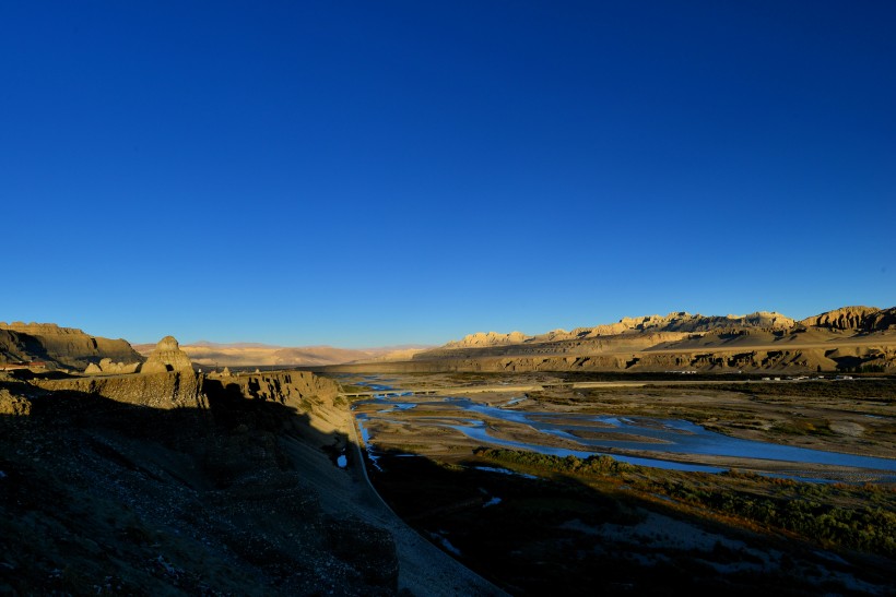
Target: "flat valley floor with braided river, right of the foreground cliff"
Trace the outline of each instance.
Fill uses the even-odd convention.
[[[378,490],[512,594],[896,589],[887,572],[896,558],[896,380],[596,377],[340,381],[375,387],[355,398],[355,413]],[[646,447],[613,447],[620,428],[628,431],[618,421],[640,423]],[[719,453],[663,452],[695,431],[675,425],[665,433],[662,421],[711,430]],[[729,438],[745,443],[726,453]],[[835,464],[757,455],[757,446],[809,449]]]

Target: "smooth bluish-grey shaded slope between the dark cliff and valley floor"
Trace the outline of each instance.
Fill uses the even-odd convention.
[[[346,469],[337,468],[326,454],[313,446],[294,439],[283,440],[296,468],[304,473],[304,480],[320,495],[323,510],[340,516],[357,516],[392,534],[401,589],[414,595],[506,595],[421,537],[386,505],[367,478],[354,422],[347,413],[344,426],[345,433],[353,438]]]

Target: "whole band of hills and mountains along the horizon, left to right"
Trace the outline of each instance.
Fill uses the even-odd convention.
[[[144,360],[154,344],[129,345],[48,323],[0,323],[0,366],[37,362],[80,369],[102,359]],[[194,365],[323,367],[363,363],[396,371],[728,371],[896,370],[896,307],[844,307],[794,321],[780,313],[624,318],[616,323],[554,330],[475,333],[433,348],[283,347],[258,343],[181,345]],[[402,365],[403,363],[403,365]]]

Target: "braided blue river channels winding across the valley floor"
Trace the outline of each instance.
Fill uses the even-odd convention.
[[[614,458],[658,468],[676,470],[702,470],[719,473],[723,467],[694,464],[699,456],[750,458],[800,464],[848,467],[859,470],[885,471],[881,480],[896,480],[896,459],[826,452],[806,447],[795,447],[776,443],[731,438],[685,421],[656,419],[649,417],[617,417],[583,414],[539,413],[517,410],[514,406],[521,397],[508,398],[498,405],[488,405],[460,396],[433,397],[402,394],[389,385],[367,383],[382,394],[372,399],[355,403],[354,408],[367,405],[364,413],[355,411],[355,419],[362,431],[368,455],[376,465],[378,452],[373,422],[414,426],[425,433],[425,428],[452,429],[484,445],[530,450],[556,456],[574,455],[588,457],[610,454]],[[376,407],[376,408],[370,408]],[[412,409],[426,408],[427,415],[405,416]],[[441,416],[438,413],[444,413]],[[499,438],[491,432],[494,421],[524,426],[534,431],[534,441],[516,441]],[[576,449],[557,447],[556,438]],[[543,440],[543,443],[542,441]],[[553,441],[552,441],[553,440]],[[554,445],[552,445],[554,444]],[[620,454],[618,451],[635,451],[638,454],[656,454],[657,458]],[[677,462],[675,455],[687,455],[689,462]],[[695,455],[698,456],[695,458]],[[791,476],[791,475],[783,475]],[[802,476],[797,476],[802,478]]]

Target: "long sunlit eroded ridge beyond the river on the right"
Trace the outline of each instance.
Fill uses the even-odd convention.
[[[684,312],[527,336],[478,333],[401,362],[337,371],[822,372],[896,369],[896,308],[847,307],[794,321],[779,313]]]

